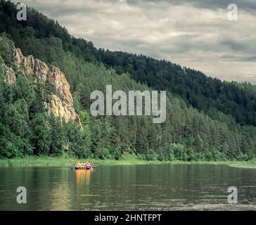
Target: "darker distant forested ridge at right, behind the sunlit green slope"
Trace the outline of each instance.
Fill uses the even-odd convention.
[[[255,90],[252,93],[251,89],[241,88],[235,82],[222,82],[200,71],[147,56],[100,49],[96,57],[120,75],[129,72],[137,82],[159,91],[167,90],[213,119],[216,119],[216,113],[222,112],[242,125],[256,126]]]

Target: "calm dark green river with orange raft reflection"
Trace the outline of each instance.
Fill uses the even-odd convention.
[[[225,165],[0,168],[0,210],[256,210],[255,181],[256,169]],[[26,204],[17,203],[20,186]]]

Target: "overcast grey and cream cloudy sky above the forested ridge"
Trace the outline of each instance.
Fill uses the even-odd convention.
[[[13,1],[17,2],[17,1]],[[75,37],[256,84],[255,0],[20,0]],[[229,4],[238,20],[229,20]]]

